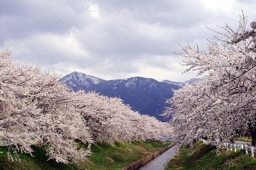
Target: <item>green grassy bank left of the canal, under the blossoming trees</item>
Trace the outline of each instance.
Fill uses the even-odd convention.
[[[120,169],[168,145],[170,143],[161,141],[116,142],[114,145],[96,143],[92,145],[91,157],[79,165],[74,164],[74,166],[77,169]],[[35,157],[19,153],[20,162],[15,160],[10,162],[7,157],[7,148],[0,146],[0,169],[74,169],[67,164],[56,163],[54,160],[47,161],[42,148],[33,146],[33,149]]]

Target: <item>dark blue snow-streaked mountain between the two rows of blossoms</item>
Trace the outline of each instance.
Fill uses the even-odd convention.
[[[173,96],[172,89],[182,86],[159,82],[152,78],[133,77],[120,80],[102,80],[94,76],[73,72],[61,78],[75,91],[84,89],[99,92],[104,96],[120,97],[132,110],[141,114],[155,116],[161,121],[168,121],[159,115],[170,106],[166,100]],[[173,81],[172,81],[173,82]]]

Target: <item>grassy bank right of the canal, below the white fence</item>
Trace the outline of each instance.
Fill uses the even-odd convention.
[[[165,169],[256,169],[256,159],[250,152],[216,151],[216,146],[197,141],[193,147],[181,148]]]

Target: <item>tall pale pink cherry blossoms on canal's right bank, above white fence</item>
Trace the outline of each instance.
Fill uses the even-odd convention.
[[[175,90],[168,101],[173,107],[165,115],[174,113],[171,123],[179,143],[193,143],[207,136],[230,141],[242,127],[247,127],[255,146],[256,22],[250,26],[250,30],[246,29],[244,16],[236,31],[226,25],[225,32],[217,32],[223,39],[209,41],[209,52],[200,52],[195,46],[182,47],[179,54],[186,57],[186,71],[206,76]]]

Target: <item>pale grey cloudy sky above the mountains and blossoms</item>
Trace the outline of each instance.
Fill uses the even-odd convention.
[[[181,74],[177,43],[205,50],[214,35],[205,27],[236,29],[241,10],[250,24],[255,9],[253,0],[0,0],[0,50],[63,76],[186,81],[196,73]]]

